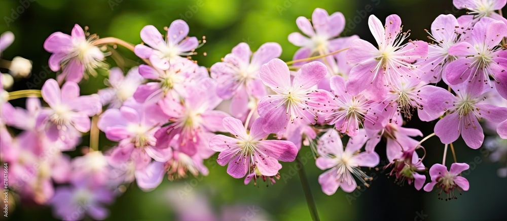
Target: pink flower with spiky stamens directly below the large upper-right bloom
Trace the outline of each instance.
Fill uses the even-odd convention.
[[[340,133],[353,137],[357,135],[360,125],[372,129],[383,127],[381,111],[376,108],[378,103],[362,94],[352,96],[347,93],[345,80],[341,76],[331,77],[331,90],[335,98],[327,106],[330,109],[324,112],[325,122],[335,125]]]

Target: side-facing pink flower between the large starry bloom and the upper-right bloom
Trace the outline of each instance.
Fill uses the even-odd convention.
[[[458,41],[465,39],[464,35],[458,38],[461,28],[453,15],[440,15],[431,24],[431,33],[428,38],[433,42],[428,45],[428,57],[417,61],[424,71],[421,78],[425,82],[438,83],[442,73],[449,63],[458,59],[449,55],[449,48]]]

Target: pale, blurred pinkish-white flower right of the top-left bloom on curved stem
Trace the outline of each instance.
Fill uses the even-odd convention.
[[[109,105],[108,108],[120,108],[124,101],[134,95],[137,87],[144,81],[139,74],[138,68],[131,68],[127,76],[123,71],[114,67],[109,70],[107,88],[99,90],[100,102],[102,105]]]

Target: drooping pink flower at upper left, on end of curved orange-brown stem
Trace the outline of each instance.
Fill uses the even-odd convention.
[[[53,71],[62,68],[58,81],[63,79],[79,82],[83,74],[96,75],[96,68],[103,67],[104,54],[93,45],[96,35],[86,37],[83,28],[75,25],[71,35],[62,32],[51,34],[44,42],[44,49],[53,53],[49,58],[49,67]]]

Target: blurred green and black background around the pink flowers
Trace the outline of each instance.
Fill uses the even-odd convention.
[[[190,25],[190,36],[206,36],[207,43],[198,49],[200,55],[195,56],[194,60],[210,67],[230,53],[239,42],[247,42],[253,50],[265,42],[278,42],[283,48],[281,58],[291,60],[298,48],[287,41],[287,35],[299,31],[295,24],[297,17],[311,17],[315,8],[323,8],[330,14],[342,12],[347,20],[347,35],[358,34],[369,41],[373,40],[368,28],[367,16],[370,14],[375,14],[381,20],[387,15],[398,14],[402,18],[404,30],[412,30],[411,38],[423,40],[427,35],[423,29],[429,29],[438,15],[463,14],[453,10],[451,0],[37,0],[30,2],[23,13],[13,13],[12,10],[15,11],[20,6],[22,4],[19,0],[0,0],[0,15],[3,18],[0,33],[9,30],[16,36],[14,44],[4,52],[3,58],[22,56],[33,61],[32,76],[16,81],[13,90],[26,89],[27,83],[33,83],[38,89],[42,86],[41,78],[54,77],[54,73],[47,74],[46,71],[50,54],[43,49],[44,40],[56,31],[70,33],[74,24],[89,26],[91,33],[97,33],[101,37],[115,36],[135,44],[140,42],[139,31],[143,26],[151,24],[163,30],[173,20],[184,19]],[[363,12],[370,8],[371,12]],[[6,17],[13,21],[5,22]],[[118,51],[130,59],[124,68],[139,64],[139,59],[130,51],[123,48]],[[202,56],[203,52],[207,56]],[[107,62],[114,64],[111,58]],[[103,78],[104,76],[98,76],[82,83],[82,93],[96,93],[97,89],[104,87]],[[23,102],[17,100],[13,104],[23,106]],[[407,126],[421,128],[424,135],[428,135],[434,125],[412,120]],[[103,141],[102,139],[102,144]],[[385,158],[383,145],[381,143],[377,147],[381,158]],[[443,145],[438,142],[438,138],[430,139],[424,146],[428,151],[425,165],[441,163]],[[496,169],[499,165],[488,161],[489,152],[485,149],[469,149],[461,140],[455,143],[455,147],[459,162],[470,163],[475,160],[475,163],[470,163],[474,164],[470,165],[473,169],[464,173],[470,182],[470,190],[450,202],[438,200],[436,192],[426,193],[416,191],[413,186],[397,186],[392,178],[386,177],[388,171],[375,170],[369,171],[375,178],[370,188],[351,194],[339,190],[335,195],[327,196],[322,193],[317,182],[322,171],[316,168],[313,158],[309,158],[305,170],[321,219],[501,220],[507,205],[507,180],[497,177]],[[307,151],[308,148],[304,148],[301,154],[304,156]],[[292,171],[295,162],[282,163],[282,178],[274,186],[266,187],[265,183],[259,182],[258,187],[255,187],[251,184],[245,186],[243,180],[229,176],[226,168],[217,165],[215,159],[216,156],[206,161],[210,174],[199,182],[192,178],[180,182],[164,180],[159,188],[149,193],[140,191],[135,184],[131,185],[110,206],[111,215],[108,219],[172,220],[176,213],[174,205],[169,203],[168,191],[185,190],[185,186],[191,182],[197,185],[192,187],[190,194],[203,194],[209,200],[209,206],[217,212],[231,205],[242,205],[245,208],[247,205],[256,205],[271,214],[268,216],[270,219],[311,219],[299,177]],[[450,156],[447,162],[448,165],[452,162]],[[427,179],[429,181],[429,175]],[[200,210],[194,205],[189,208],[194,209],[190,210],[194,212]],[[32,204],[16,205],[10,216],[10,220],[52,219],[49,208]],[[258,215],[253,218],[262,217]]]

